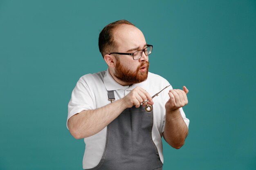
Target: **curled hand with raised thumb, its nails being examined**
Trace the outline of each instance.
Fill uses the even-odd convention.
[[[180,89],[170,90],[168,95],[170,99],[165,104],[165,109],[167,112],[173,112],[186,104],[188,104],[188,98],[186,94],[189,93],[189,90],[183,86],[183,91]]]

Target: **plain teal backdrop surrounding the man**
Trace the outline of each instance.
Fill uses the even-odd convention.
[[[255,0],[0,0],[0,169],[82,169],[71,92],[106,70],[103,27],[126,19],[153,44],[150,72],[189,88],[185,145],[164,170],[256,170]]]

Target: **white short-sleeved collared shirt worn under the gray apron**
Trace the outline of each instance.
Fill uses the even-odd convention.
[[[166,79],[150,72],[148,72],[148,78],[144,82],[132,84],[132,86],[122,86],[117,83],[110,75],[109,70],[83,75],[72,91],[72,96],[68,104],[67,120],[83,110],[93,110],[110,104],[107,91],[114,91],[115,100],[118,100],[130,93],[136,86],[145,89],[153,96],[167,85],[169,85],[169,83]],[[172,89],[171,86],[162,91],[157,97],[153,98],[154,123],[152,138],[157,146],[162,162],[164,162],[161,139],[165,125],[164,105],[169,99],[168,91],[170,89]],[[186,125],[189,126],[189,119],[186,118],[182,108],[180,108],[180,113]],[[106,132],[107,127],[95,135],[84,138],[85,153],[83,156],[83,169],[94,168],[98,165],[105,148]]]

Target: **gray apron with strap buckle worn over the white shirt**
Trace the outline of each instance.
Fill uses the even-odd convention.
[[[108,98],[115,100],[114,91]],[[99,164],[87,170],[162,170],[152,139],[153,109],[126,108],[107,126],[106,145]]]

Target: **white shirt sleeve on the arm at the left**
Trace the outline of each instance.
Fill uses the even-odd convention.
[[[78,81],[72,91],[70,102],[68,103],[67,121],[73,115],[83,110],[92,110],[95,108],[93,95],[85,82]],[[66,123],[67,124],[67,123]],[[68,126],[67,126],[67,129]]]

